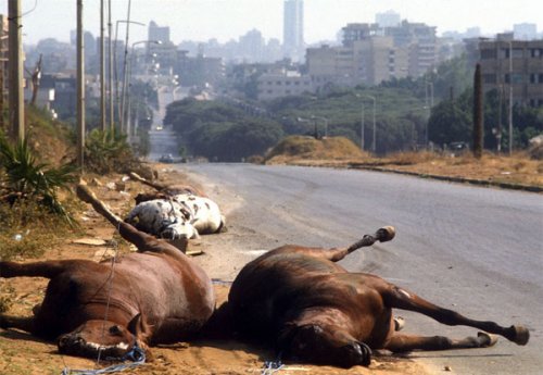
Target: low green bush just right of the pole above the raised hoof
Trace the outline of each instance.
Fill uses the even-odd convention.
[[[85,166],[89,172],[127,172],[137,163],[126,141],[126,135],[99,129],[92,129],[88,134],[85,142]]]

